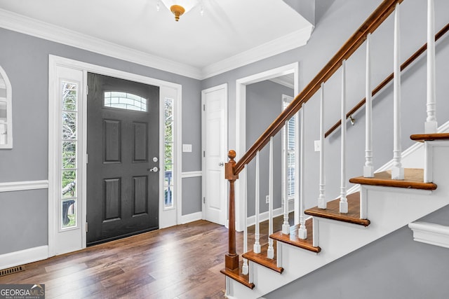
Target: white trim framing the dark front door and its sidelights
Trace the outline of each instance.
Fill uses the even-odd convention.
[[[58,211],[55,210],[55,201],[58,198],[55,196],[55,190],[58,188],[57,181],[59,180],[59,168],[60,161],[52,158],[55,146],[58,146],[59,138],[58,132],[59,127],[55,126],[55,121],[58,116],[58,105],[55,103],[59,101],[58,98],[58,77],[56,73],[57,67],[66,67],[68,69],[76,69],[83,71],[83,83],[81,85],[82,90],[82,109],[79,111],[79,119],[81,119],[81,127],[79,127],[79,140],[81,141],[78,153],[79,163],[81,164],[80,178],[81,178],[81,186],[79,186],[79,204],[81,204],[81,244],[83,248],[86,248],[86,140],[87,140],[87,94],[86,94],[86,85],[87,85],[87,73],[93,72],[96,74],[102,74],[105,76],[112,76],[116,78],[122,78],[129,81],[136,81],[140,83],[145,83],[149,85],[156,85],[161,88],[168,87],[176,90],[177,96],[175,99],[175,107],[176,107],[176,117],[177,123],[175,124],[175,142],[177,145],[180,144],[181,136],[182,136],[182,128],[181,128],[181,114],[182,114],[182,85],[171,83],[168,81],[162,81],[159,79],[149,78],[146,76],[141,76],[137,74],[131,74],[125,71],[119,71],[116,69],[109,69],[107,67],[100,67],[95,64],[89,64],[86,62],[79,62],[76,60],[70,60],[65,57],[58,57],[55,55],[49,55],[48,57],[48,256],[55,256],[55,242],[57,242],[56,234],[58,232],[58,219],[55,217],[58,215]],[[160,97],[161,100],[161,97]],[[56,118],[56,119],[55,119]],[[160,118],[161,122],[163,118]],[[161,127],[161,125],[160,125]],[[163,135],[159,134],[160,140],[159,144],[163,142]],[[182,207],[182,193],[181,193],[181,169],[180,165],[182,165],[182,153],[180,152],[180,146],[175,147],[175,157],[177,158],[176,164],[179,167],[173,169],[173,179],[175,180],[175,202],[176,207]],[[159,169],[163,167],[163,159],[159,159]],[[58,170],[57,170],[58,169]],[[159,172],[159,190],[163,190],[163,172]],[[58,192],[58,191],[56,191]],[[159,207],[161,206],[161,200],[163,199],[163,192],[159,193]],[[177,209],[176,222],[180,223],[181,209]],[[159,221],[161,220],[161,211],[159,211]]]

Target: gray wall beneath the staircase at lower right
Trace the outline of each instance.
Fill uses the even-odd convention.
[[[426,217],[448,225],[449,207]],[[279,288],[264,298],[448,298],[449,249],[413,241],[408,227]]]

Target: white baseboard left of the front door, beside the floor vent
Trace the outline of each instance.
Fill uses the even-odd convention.
[[[0,270],[48,258],[48,246],[33,247],[0,255]]]

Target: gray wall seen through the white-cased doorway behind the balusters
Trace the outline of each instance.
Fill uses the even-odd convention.
[[[272,81],[246,85],[246,145],[247,149],[282,111],[282,95],[293,97],[293,90]],[[281,134],[274,138],[274,209],[281,207]],[[269,148],[260,152],[260,212],[268,211]],[[248,216],[255,212],[255,163],[248,165]]]

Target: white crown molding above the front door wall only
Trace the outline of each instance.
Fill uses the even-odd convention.
[[[116,43],[110,43],[102,39],[96,39],[86,34],[80,34],[69,29],[41,22],[33,18],[25,17],[11,11],[5,11],[0,8],[0,27],[13,30],[30,36],[36,36],[40,39],[62,43],[67,46],[73,46],[88,50],[94,53],[107,55],[120,60],[126,60],[136,64],[142,64],[146,67],[168,71],[173,74],[179,74],[190,78],[201,79],[201,70],[187,64],[166,60],[156,55],[150,55],[138,50],[133,50]]]

